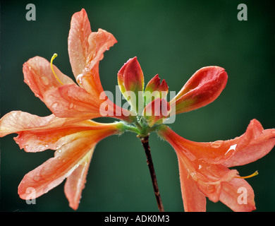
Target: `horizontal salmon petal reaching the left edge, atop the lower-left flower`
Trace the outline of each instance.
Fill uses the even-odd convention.
[[[109,124],[95,121],[79,121],[77,118],[58,118],[51,114],[38,117],[27,112],[9,112],[0,119],[0,136],[18,133],[14,138],[27,152],[56,150],[56,141],[63,136],[80,131],[104,129]]]

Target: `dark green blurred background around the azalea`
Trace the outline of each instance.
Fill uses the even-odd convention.
[[[36,6],[27,21],[25,6]],[[237,6],[247,5],[247,21]],[[51,114],[23,83],[27,59],[48,60],[71,76],[67,38],[73,13],[85,8],[92,30],[111,32],[118,43],[104,54],[100,76],[115,92],[116,73],[138,57],[145,83],[159,73],[178,92],[202,66],[221,66],[228,83],[219,98],[194,112],[177,115],[171,128],[192,141],[226,140],[245,132],[251,119],[275,127],[274,8],[272,1],[1,1],[1,117],[12,110]],[[6,211],[71,211],[64,182],[27,205],[17,194],[24,175],[54,155],[53,150],[25,153],[12,134],[1,138],[0,208]],[[166,211],[183,211],[176,154],[155,133],[152,157]],[[247,181],[257,211],[275,210],[275,149],[257,162],[237,167],[240,175],[259,170]],[[134,133],[106,138],[94,152],[79,211],[157,211],[142,145]],[[231,211],[207,200],[208,211]]]

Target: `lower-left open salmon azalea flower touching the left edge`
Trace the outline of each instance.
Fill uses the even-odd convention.
[[[18,133],[14,139],[26,152],[56,150],[54,157],[25,175],[18,186],[20,198],[37,198],[67,179],[64,191],[74,210],[78,208],[95,146],[107,136],[122,133],[120,122],[74,122],[54,114],[38,117],[20,111],[6,114],[0,121],[0,128],[1,137]],[[30,188],[35,193],[30,194]]]

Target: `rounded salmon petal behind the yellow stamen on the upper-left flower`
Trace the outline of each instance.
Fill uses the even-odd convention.
[[[63,84],[74,83],[71,78],[65,76],[56,66],[53,65],[54,72]],[[54,73],[51,70],[51,64],[42,57],[33,57],[23,65],[25,83],[37,97],[44,101],[44,93],[51,88],[60,87]]]

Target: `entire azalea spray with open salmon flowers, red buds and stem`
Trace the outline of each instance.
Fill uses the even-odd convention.
[[[54,66],[57,54],[51,61],[34,57],[23,65],[25,83],[53,114],[39,117],[27,112],[9,112],[0,119],[0,137],[18,133],[14,139],[26,152],[51,149],[55,153],[25,175],[18,186],[20,198],[28,199],[30,195],[37,198],[66,179],[64,192],[69,206],[76,210],[97,143],[107,136],[131,131],[138,134],[145,148],[158,208],[164,211],[149,148],[149,133],[157,132],[178,156],[185,211],[205,211],[205,197],[221,201],[234,211],[255,210],[254,193],[245,181],[247,177],[240,177],[236,169],[228,167],[246,165],[267,155],[275,145],[275,129],[264,130],[253,119],[242,136],[197,143],[169,128],[169,118],[216,100],[228,79],[219,66],[196,71],[178,94],[167,101],[166,81],[156,75],[145,86],[141,66],[137,57],[133,57],[118,71],[118,86],[130,109],[115,105],[99,79],[99,61],[115,43],[111,33],[102,29],[91,31],[87,13],[82,9],[73,15],[68,35],[68,53],[76,83]],[[113,117],[116,121],[103,124],[92,120],[98,117]],[[30,188],[35,192],[30,194]],[[240,188],[247,192],[246,202],[239,200]]]

